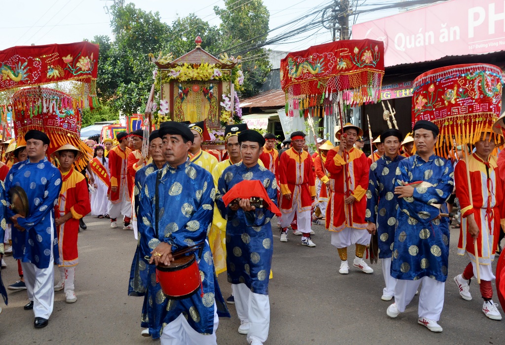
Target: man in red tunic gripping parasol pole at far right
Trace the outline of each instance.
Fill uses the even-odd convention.
[[[501,320],[499,311],[494,306],[491,280],[495,279],[491,263],[498,244],[500,229],[499,208],[503,202],[503,186],[498,172],[497,158],[492,155],[494,148],[503,143],[495,142],[490,130],[483,131],[479,141],[475,142],[475,153],[468,157],[468,170],[472,188],[470,203],[467,179],[467,164],[460,160],[455,169],[456,193],[461,207],[461,230],[458,242],[458,254],[467,255],[470,263],[463,274],[454,277],[461,297],[471,301],[470,279],[477,275],[476,260],[479,260],[480,293],[484,304],[482,312],[488,318]],[[475,253],[474,241],[477,241],[478,253]]]

